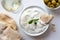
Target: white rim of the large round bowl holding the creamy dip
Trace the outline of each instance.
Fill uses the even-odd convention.
[[[30,7],[27,7],[26,9],[32,8],[32,7],[37,7],[37,8],[39,8],[39,9],[43,10],[43,9],[42,9],[41,7],[39,7],[39,6],[30,6]],[[24,12],[26,9],[24,9],[23,12]],[[44,11],[44,10],[43,10],[43,11]],[[45,29],[43,32],[40,32],[40,33],[37,33],[37,34],[31,34],[31,33],[28,33],[27,31],[25,31],[25,30],[23,29],[22,25],[21,25],[21,16],[22,16],[23,12],[22,12],[21,15],[20,15],[19,24],[20,24],[20,28],[21,28],[27,35],[30,35],[30,36],[39,36],[39,35],[42,35],[43,33],[46,32],[46,30],[47,30],[48,27],[49,27],[49,24],[46,25],[46,29]],[[44,11],[44,12],[45,12],[45,11]]]

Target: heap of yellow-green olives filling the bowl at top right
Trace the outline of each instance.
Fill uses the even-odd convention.
[[[56,8],[60,6],[60,0],[44,0],[44,2],[50,8]]]

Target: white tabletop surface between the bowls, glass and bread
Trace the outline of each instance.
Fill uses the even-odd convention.
[[[12,12],[6,11],[2,7],[1,0],[0,0],[0,12],[7,13],[16,21],[16,23],[19,27],[19,30],[20,30],[19,33],[22,35],[23,40],[60,40],[60,9],[58,9],[57,11],[48,10],[45,7],[45,5],[43,4],[42,0],[22,0],[22,5],[23,5],[22,9],[19,10],[19,12],[17,12],[16,14],[14,14]],[[56,32],[53,32],[53,31],[51,31],[51,29],[48,29],[46,33],[44,33],[43,35],[38,36],[38,37],[31,37],[31,36],[26,35],[20,29],[19,18],[20,18],[20,14],[22,13],[23,9],[28,7],[28,6],[40,6],[46,12],[53,14],[54,19],[53,19],[52,23],[56,25]]]

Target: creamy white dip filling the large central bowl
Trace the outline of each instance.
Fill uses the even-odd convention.
[[[27,8],[21,15],[21,27],[31,34],[43,32],[47,27],[46,25],[41,24],[40,16],[43,14],[46,13],[38,7]],[[32,19],[39,19],[37,21],[37,25],[35,25],[34,23],[28,23]]]

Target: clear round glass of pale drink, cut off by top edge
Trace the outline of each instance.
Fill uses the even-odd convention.
[[[18,2],[18,1],[20,1],[20,2]],[[11,3],[8,3],[8,2],[11,2]],[[18,4],[16,4],[17,2],[18,2]],[[7,10],[9,12],[17,13],[18,11],[20,11],[22,9],[22,1],[17,0],[17,2],[14,0],[2,0],[1,5],[5,10]]]

